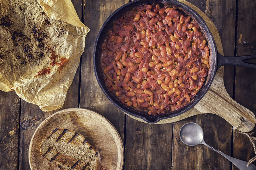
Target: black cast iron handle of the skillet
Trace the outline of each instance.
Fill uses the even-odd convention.
[[[225,57],[225,56],[221,55],[220,53],[218,53],[217,69],[223,65],[234,65],[234,66],[256,69],[256,64],[245,62],[246,60],[249,60],[249,59],[256,59],[256,55]]]

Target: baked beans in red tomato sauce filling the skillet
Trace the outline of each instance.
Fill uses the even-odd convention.
[[[144,4],[107,30],[100,66],[122,104],[157,115],[195,98],[210,69],[209,53],[196,21],[179,9]]]

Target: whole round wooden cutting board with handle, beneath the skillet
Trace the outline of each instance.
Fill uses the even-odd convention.
[[[214,37],[218,52],[224,55],[221,38],[213,22],[200,9],[198,9],[193,4],[185,0],[178,0],[178,1],[188,5],[189,7],[191,7],[201,15],[201,17],[204,19],[206,25],[209,27]],[[246,109],[245,107],[243,107],[242,105],[234,101],[228,95],[224,87],[223,74],[224,74],[224,66],[218,69],[210,89],[204,95],[204,97],[200,100],[200,102],[197,103],[192,109],[188,110],[187,112],[179,116],[160,120],[157,124],[172,123],[172,122],[176,122],[197,114],[212,113],[212,114],[217,114],[221,116],[233,127],[236,127],[237,125],[239,125],[240,122],[243,120],[244,122],[238,127],[238,130],[242,132],[251,131],[255,126],[255,122],[256,122],[255,115],[253,112],[251,112],[250,110]],[[136,120],[139,120],[141,122],[145,122],[140,118],[137,118],[131,115],[128,115],[128,116]]]

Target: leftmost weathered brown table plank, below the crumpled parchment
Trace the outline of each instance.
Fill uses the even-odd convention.
[[[0,169],[16,170],[19,160],[20,98],[0,91]]]

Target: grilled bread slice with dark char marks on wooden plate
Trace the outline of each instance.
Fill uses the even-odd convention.
[[[98,170],[100,155],[79,133],[56,128],[40,145],[40,153],[63,170]]]

